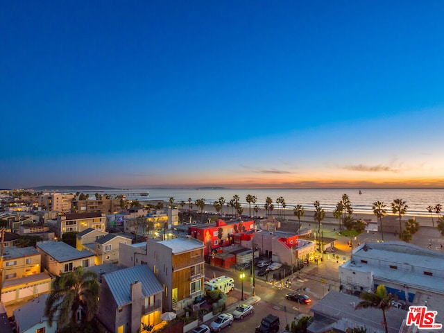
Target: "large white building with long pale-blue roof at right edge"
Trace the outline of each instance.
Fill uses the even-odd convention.
[[[343,291],[373,291],[384,284],[403,307],[427,305],[444,322],[444,254],[403,241],[364,243],[339,267]]]

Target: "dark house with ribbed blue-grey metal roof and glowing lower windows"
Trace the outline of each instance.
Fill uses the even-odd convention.
[[[96,317],[109,332],[140,332],[160,323],[163,290],[146,265],[105,273]]]

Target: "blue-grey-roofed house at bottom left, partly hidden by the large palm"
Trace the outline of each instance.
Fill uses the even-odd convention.
[[[48,294],[33,298],[21,307],[17,307],[12,314],[14,316],[15,330],[18,333],[56,333],[57,321],[49,325],[48,318],[44,316],[44,307]]]

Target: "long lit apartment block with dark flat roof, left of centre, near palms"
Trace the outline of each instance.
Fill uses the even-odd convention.
[[[62,214],[57,217],[56,234],[69,231],[81,232],[87,228],[105,231],[105,213]]]

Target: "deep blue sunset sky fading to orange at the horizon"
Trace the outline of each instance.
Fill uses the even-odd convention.
[[[443,1],[1,1],[0,189],[444,187]]]

